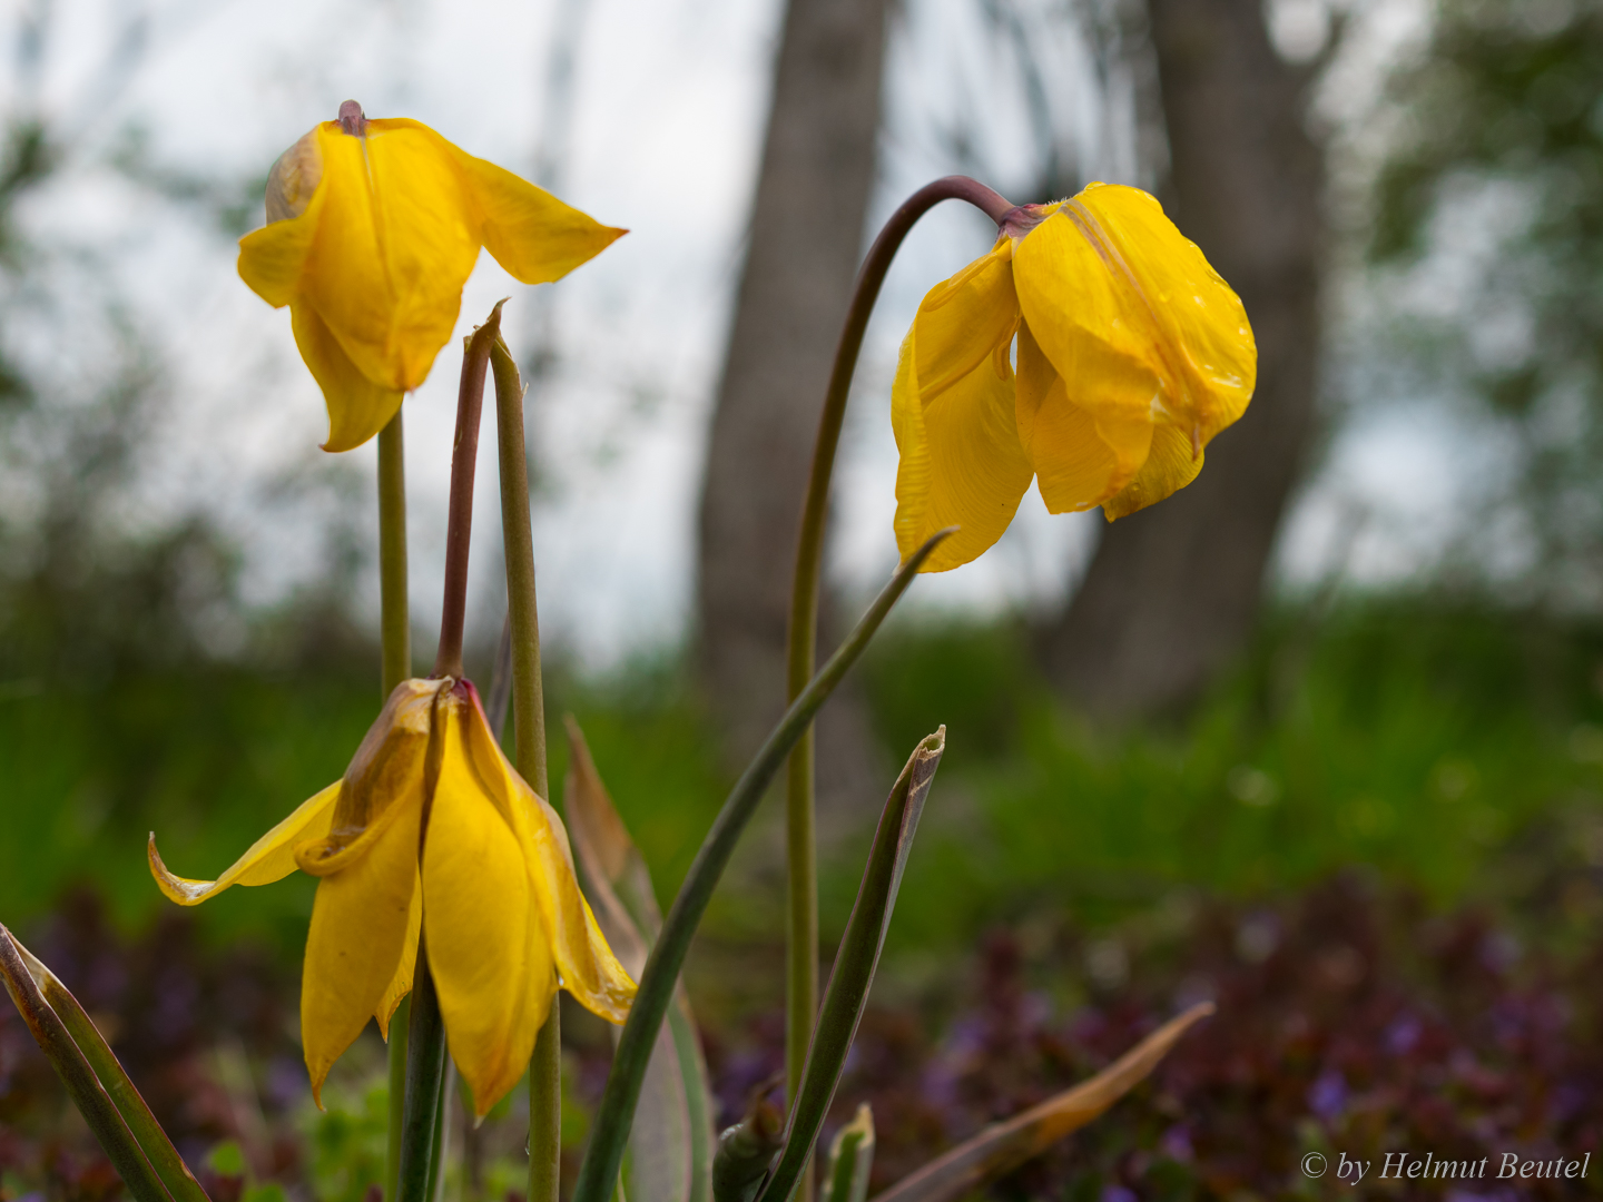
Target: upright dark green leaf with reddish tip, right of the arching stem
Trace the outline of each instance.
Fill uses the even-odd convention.
[[[813,1027],[813,1045],[802,1067],[802,1083],[785,1128],[785,1151],[781,1152],[773,1176],[758,1196],[763,1202],[790,1202],[813,1154],[818,1131],[835,1098],[846,1053],[858,1034],[858,1023],[862,1021],[862,1006],[869,1000],[874,970],[878,968],[880,950],[885,947],[885,931],[896,909],[896,889],[907,867],[912,837],[919,830],[919,817],[923,814],[923,803],[930,797],[935,769],[941,766],[944,752],[943,726],[914,748],[885,801],[880,829],[874,832],[869,864],[862,870],[858,901],[851,907],[851,918],[846,920],[846,933],[840,938],[835,968],[829,974],[824,1005]]]

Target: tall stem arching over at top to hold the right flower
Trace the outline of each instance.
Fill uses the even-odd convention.
[[[1013,208],[1000,194],[970,179],[949,175],[925,184],[902,202],[858,271],[851,290],[851,308],[835,346],[835,365],[824,393],[824,412],[818,420],[813,442],[813,470],[802,506],[802,532],[797,538],[797,567],[790,588],[790,622],[787,630],[787,700],[795,700],[813,676],[818,659],[818,595],[824,561],[824,527],[829,518],[829,481],[835,471],[835,449],[846,417],[851,375],[858,369],[862,335],[878,300],[880,285],[891,260],[920,216],[941,200],[967,200],[997,224]],[[785,1096],[795,1098],[802,1082],[818,1014],[818,856],[813,816],[813,728],[803,732],[785,766],[785,859],[789,870],[789,931],[785,973]]]

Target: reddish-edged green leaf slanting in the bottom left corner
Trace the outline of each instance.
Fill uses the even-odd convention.
[[[83,1006],[5,926],[0,976],[128,1192],[138,1202],[207,1202]]]

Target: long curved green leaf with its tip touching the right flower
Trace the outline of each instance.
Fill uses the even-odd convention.
[[[802,732],[813,721],[819,707],[826,702],[840,680],[846,675],[858,657],[867,647],[874,631],[880,628],[891,606],[912,583],[919,566],[930,558],[930,553],[951,530],[941,530],[920,547],[904,563],[885,591],[875,598],[869,612],[862,615],[840,649],[830,655],[829,664],[808,683],[802,694],[785,710],[784,718],[769,732],[768,740],[758,750],[757,758],[747,764],[729,797],[718,811],[718,817],[707,832],[689,875],[680,888],[673,907],[668,910],[662,933],[657,936],[651,955],[646,958],[646,970],[640,976],[640,989],[635,1003],[628,1010],[628,1021],[619,1037],[617,1050],[612,1053],[612,1072],[608,1075],[606,1091],[601,1095],[601,1107],[596,1111],[595,1135],[590,1138],[590,1149],[585,1152],[583,1167],[579,1170],[579,1183],[574,1188],[572,1202],[608,1202],[612,1196],[612,1183],[624,1164],[624,1148],[628,1143],[628,1128],[635,1119],[635,1106],[640,1103],[640,1087],[646,1077],[646,1064],[651,1050],[657,1042],[657,1029],[662,1016],[673,1000],[675,986],[680,979],[680,968],[684,965],[684,954],[689,950],[691,936],[707,912],[707,902],[718,885],[729,854],[750,822],[763,793],[779,772],[790,748],[795,747]]]

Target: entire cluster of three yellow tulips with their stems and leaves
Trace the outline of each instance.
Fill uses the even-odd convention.
[[[946,199],[984,212],[997,239],[919,306],[891,393],[902,563],[816,668],[829,487],[862,337],[902,239]],[[681,1115],[684,1172],[670,1181],[662,1165],[672,1157],[648,1156],[636,1157],[630,1172],[668,1175],[636,1192],[675,1202],[810,1197],[813,1144],[861,1021],[946,745],[943,726],[920,742],[891,789],[819,1010],[813,721],[914,577],[983,555],[1031,481],[1048,510],[1100,505],[1109,518],[1185,487],[1201,471],[1209,439],[1241,417],[1252,394],[1255,349],[1241,303],[1157,202],[1135,189],[1093,184],[1069,200],[1013,205],[973,179],[949,176],[893,215],[859,272],[819,418],[797,545],[784,718],[728,795],[660,925],[654,897],[646,907],[651,930],[630,925],[612,893],[616,881],[604,878],[611,870],[598,867],[638,861],[622,822],[606,817],[609,803],[575,825],[575,837],[611,840],[609,848],[582,845],[580,862],[608,930],[624,939],[625,958],[643,962],[636,986],[580,891],[569,833],[548,801],[524,388],[502,338],[502,305],[463,340],[441,633],[426,678],[410,672],[401,417],[406,393],[430,373],[455,329],[462,287],[481,248],[526,284],[551,282],[624,231],[465,154],[428,127],[370,120],[354,101],[274,163],[266,212],[268,224],[240,242],[239,272],[266,301],[290,309],[297,346],[327,402],[325,449],[348,450],[378,434],[385,702],[343,777],[215,880],[170,872],[152,833],[147,856],[159,888],[180,906],[197,906],[234,885],[269,885],[297,870],[317,878],[301,982],[306,1069],[321,1104],[330,1067],[367,1023],[388,1032],[391,1202],[438,1196],[447,1058],[468,1087],[476,1119],[529,1074],[529,1202],[556,1202],[558,990],[622,1024],[572,1191],[574,1202],[608,1202],[620,1192],[630,1128],[652,1066],[659,1074],[673,1067],[675,1088],[705,1093],[680,970],[737,840],[784,766],[789,1114],[779,1127],[777,1111],[758,1104],[753,1114],[768,1114],[763,1138],[753,1143],[752,1130],[736,1128],[717,1157],[691,1151],[710,1149],[710,1130],[702,1138]],[[502,752],[499,729],[463,675],[473,486],[491,377],[516,763]],[[593,764],[588,771],[593,776]],[[588,795],[583,805],[601,805],[598,780]],[[604,821],[593,821],[596,814]],[[632,888],[635,896],[651,894],[649,878]],[[119,1109],[115,1099],[138,1095],[104,1042],[88,1034],[93,1026],[77,1023],[71,994],[51,984],[48,970],[3,928],[0,976],[135,1194],[176,1202],[152,1165],[165,1167],[184,1197],[197,1192],[183,1184],[188,1170],[178,1172],[181,1159],[170,1143],[160,1146],[164,1136],[147,1112]],[[673,1005],[678,1021],[665,1039]],[[944,1202],[1000,1172],[997,1165],[1061,1138],[1149,1072],[1202,1013],[1177,1019],[1072,1096],[1045,1103],[907,1178],[896,1197]],[[694,1103],[683,1103],[684,1115],[697,1114],[705,1125],[709,1099]],[[652,1130],[670,1127],[657,1122]],[[872,1115],[864,1107],[850,1139],[838,1139],[832,1152],[830,1180],[842,1196],[830,1202],[861,1202],[872,1148]]]

